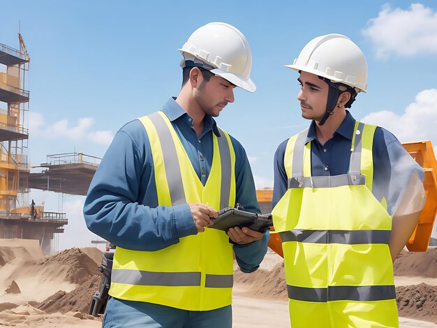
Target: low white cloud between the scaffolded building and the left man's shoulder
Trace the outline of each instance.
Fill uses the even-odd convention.
[[[68,126],[68,119],[61,119],[50,125],[45,122],[43,114],[29,112],[29,133],[34,136],[50,139],[66,137],[68,140],[89,140],[94,144],[108,146],[114,133],[112,131],[92,131],[95,120],[92,117],[81,117],[75,126]]]

